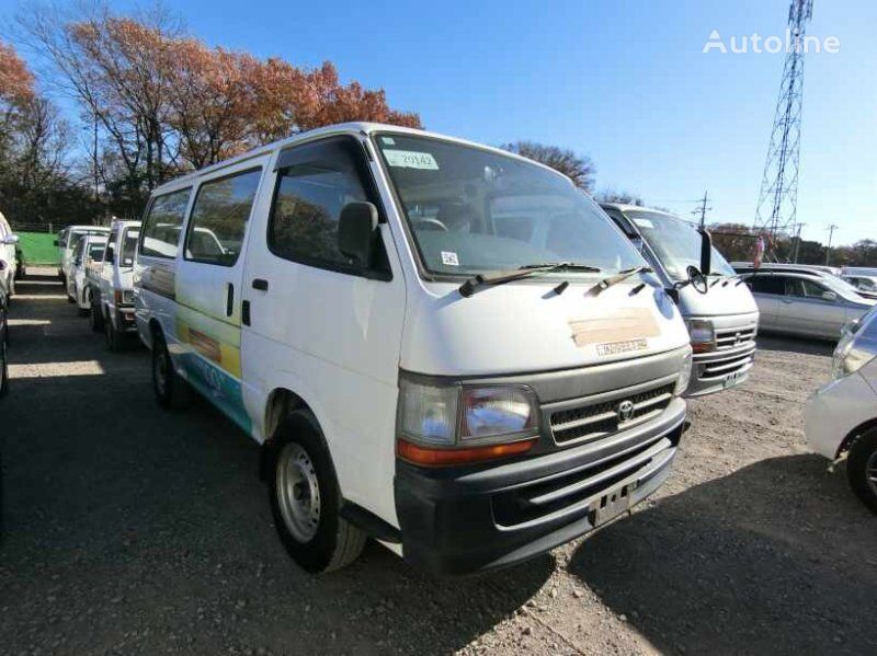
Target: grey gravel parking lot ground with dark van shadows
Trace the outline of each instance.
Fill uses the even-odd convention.
[[[829,345],[761,338],[694,401],[670,483],[586,541],[436,580],[379,545],[314,578],[286,555],[258,446],[156,405],[49,278],[12,308],[0,402],[0,654],[877,653],[877,518],[809,452]]]

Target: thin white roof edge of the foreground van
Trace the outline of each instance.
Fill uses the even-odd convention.
[[[208,174],[214,173],[216,171],[220,171],[220,170],[223,170],[223,169],[225,169],[227,166],[232,166],[232,165],[238,164],[240,162],[244,162],[244,161],[247,161],[249,159],[253,159],[253,158],[257,158],[257,157],[260,157],[260,156],[263,156],[263,154],[271,153],[271,152],[273,152],[275,150],[278,150],[278,149],[282,149],[282,148],[286,148],[286,147],[292,146],[294,143],[304,143],[306,141],[312,141],[312,140],[319,139],[321,137],[328,137],[328,136],[332,136],[332,135],[360,134],[362,136],[368,136],[368,135],[372,135],[374,133],[383,133],[383,131],[392,131],[392,133],[397,133],[397,134],[407,134],[407,135],[411,135],[411,136],[415,136],[415,137],[432,137],[432,138],[436,138],[436,139],[443,139],[445,141],[453,141],[455,143],[459,143],[459,145],[463,145],[463,146],[472,146],[472,147],[476,147],[476,148],[480,148],[482,150],[490,150],[490,151],[497,152],[499,154],[503,154],[503,156],[511,157],[511,158],[519,159],[519,160],[524,160],[524,161],[526,161],[526,162],[528,162],[531,164],[536,164],[538,166],[542,166],[543,169],[546,169],[546,170],[550,171],[551,173],[555,173],[556,175],[561,175],[566,180],[569,180],[562,173],[559,173],[558,171],[551,169],[550,166],[546,166],[545,164],[543,164],[540,162],[535,162],[534,160],[521,157],[521,156],[519,156],[519,154],[516,154],[514,152],[510,152],[508,150],[502,150],[500,148],[493,148],[491,146],[485,146],[483,143],[478,143],[476,141],[469,141],[467,139],[459,139],[457,137],[451,137],[448,135],[442,135],[442,134],[438,134],[438,133],[430,133],[430,131],[421,130],[421,129],[417,129],[417,128],[400,127],[398,125],[389,125],[389,124],[383,124],[383,123],[368,123],[368,122],[351,122],[351,123],[338,123],[338,124],[334,124],[334,125],[328,125],[328,126],[324,126],[324,127],[314,128],[311,130],[306,130],[306,131],[303,131],[303,133],[298,133],[298,134],[293,135],[291,137],[285,137],[283,139],[277,140],[277,141],[272,141],[271,143],[265,143],[264,146],[259,146],[257,148],[253,148],[252,150],[248,150],[247,152],[243,152],[243,153],[241,153],[239,156],[236,156],[234,158],[229,158],[227,160],[223,160],[221,162],[217,162],[215,164],[210,164],[209,166],[205,166],[204,169],[198,169],[197,171],[192,171],[191,173],[186,173],[186,174],[181,175],[179,177],[174,177],[173,180],[170,180],[170,181],[166,182],[164,184],[162,184],[162,185],[156,187],[155,189],[152,189],[152,195],[161,194],[161,193],[169,192],[169,191],[173,191],[175,188],[179,188],[180,186],[185,186],[186,184],[193,183],[193,182],[195,182],[196,180],[198,180],[200,177],[202,177],[204,175],[208,175]],[[569,181],[569,182],[570,182],[570,184],[572,184],[572,181]]]

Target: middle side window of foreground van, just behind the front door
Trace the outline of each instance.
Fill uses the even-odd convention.
[[[185,240],[185,258],[234,266],[259,188],[262,170],[205,182],[195,196]]]

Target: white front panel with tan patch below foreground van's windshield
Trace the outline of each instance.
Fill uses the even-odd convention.
[[[423,283],[409,291],[400,366],[435,376],[539,372],[602,365],[688,344],[679,309],[653,278],[624,281],[596,296],[596,278],[517,280],[479,288]],[[639,291],[635,289],[642,286]]]

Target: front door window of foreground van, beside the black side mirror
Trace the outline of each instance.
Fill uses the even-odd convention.
[[[349,260],[338,250],[341,208],[354,200],[375,203],[360,143],[338,137],[293,148],[281,153],[278,169],[267,228],[271,252],[304,264],[348,268]]]

